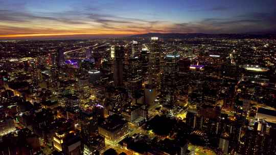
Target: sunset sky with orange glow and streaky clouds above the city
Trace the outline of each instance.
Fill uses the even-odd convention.
[[[0,39],[246,33],[275,28],[275,0],[0,0]]]

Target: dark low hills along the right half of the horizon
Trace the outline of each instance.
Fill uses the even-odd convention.
[[[204,33],[147,33],[140,35],[129,36],[129,38],[150,38],[159,37],[164,39],[169,38],[225,38],[225,39],[245,39],[245,38],[267,38],[275,39],[276,33],[266,34],[266,33],[244,33],[244,34],[204,34]]]

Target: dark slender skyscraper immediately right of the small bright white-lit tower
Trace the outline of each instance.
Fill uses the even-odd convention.
[[[114,60],[114,86],[123,86],[123,62],[124,62],[125,48],[124,46],[115,47]]]

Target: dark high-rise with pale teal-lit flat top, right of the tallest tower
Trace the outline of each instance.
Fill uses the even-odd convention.
[[[178,84],[178,70],[179,58],[177,53],[167,55],[165,58],[164,73],[162,75],[162,89],[165,105],[173,105],[177,100],[177,84]]]

